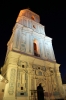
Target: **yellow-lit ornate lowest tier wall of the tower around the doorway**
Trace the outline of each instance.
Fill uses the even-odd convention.
[[[6,60],[8,62],[6,73],[8,84],[5,87],[4,100],[5,98],[8,100],[8,97],[14,100],[22,97],[29,100],[32,96],[30,90],[36,90],[39,83],[42,83],[45,90],[45,98],[61,97],[58,88],[61,80],[59,79],[60,83],[57,83],[55,69],[55,66],[59,67],[59,64],[14,51],[8,54]],[[63,91],[62,85],[60,87]]]

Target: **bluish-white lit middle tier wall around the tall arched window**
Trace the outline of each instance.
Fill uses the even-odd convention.
[[[38,42],[38,54],[40,57],[45,60],[55,61],[51,38],[34,32],[32,29],[20,24],[16,24],[15,27],[12,37],[8,42],[8,48],[10,48],[10,51],[13,49],[34,55],[33,42],[36,40]]]

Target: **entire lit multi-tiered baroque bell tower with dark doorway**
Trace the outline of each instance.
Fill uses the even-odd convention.
[[[46,100],[64,97],[61,74],[56,62],[52,38],[46,36],[40,16],[21,10],[7,43],[1,74],[8,80],[3,100],[37,100],[42,83]]]

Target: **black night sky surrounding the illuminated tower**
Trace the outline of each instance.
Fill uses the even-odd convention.
[[[2,0],[0,2],[0,66],[3,66],[7,42],[12,34],[19,11],[30,8],[40,15],[40,23],[45,26],[46,35],[53,38],[54,53],[57,63],[61,64],[60,72],[63,78],[66,75],[66,5],[61,1],[39,1]]]

